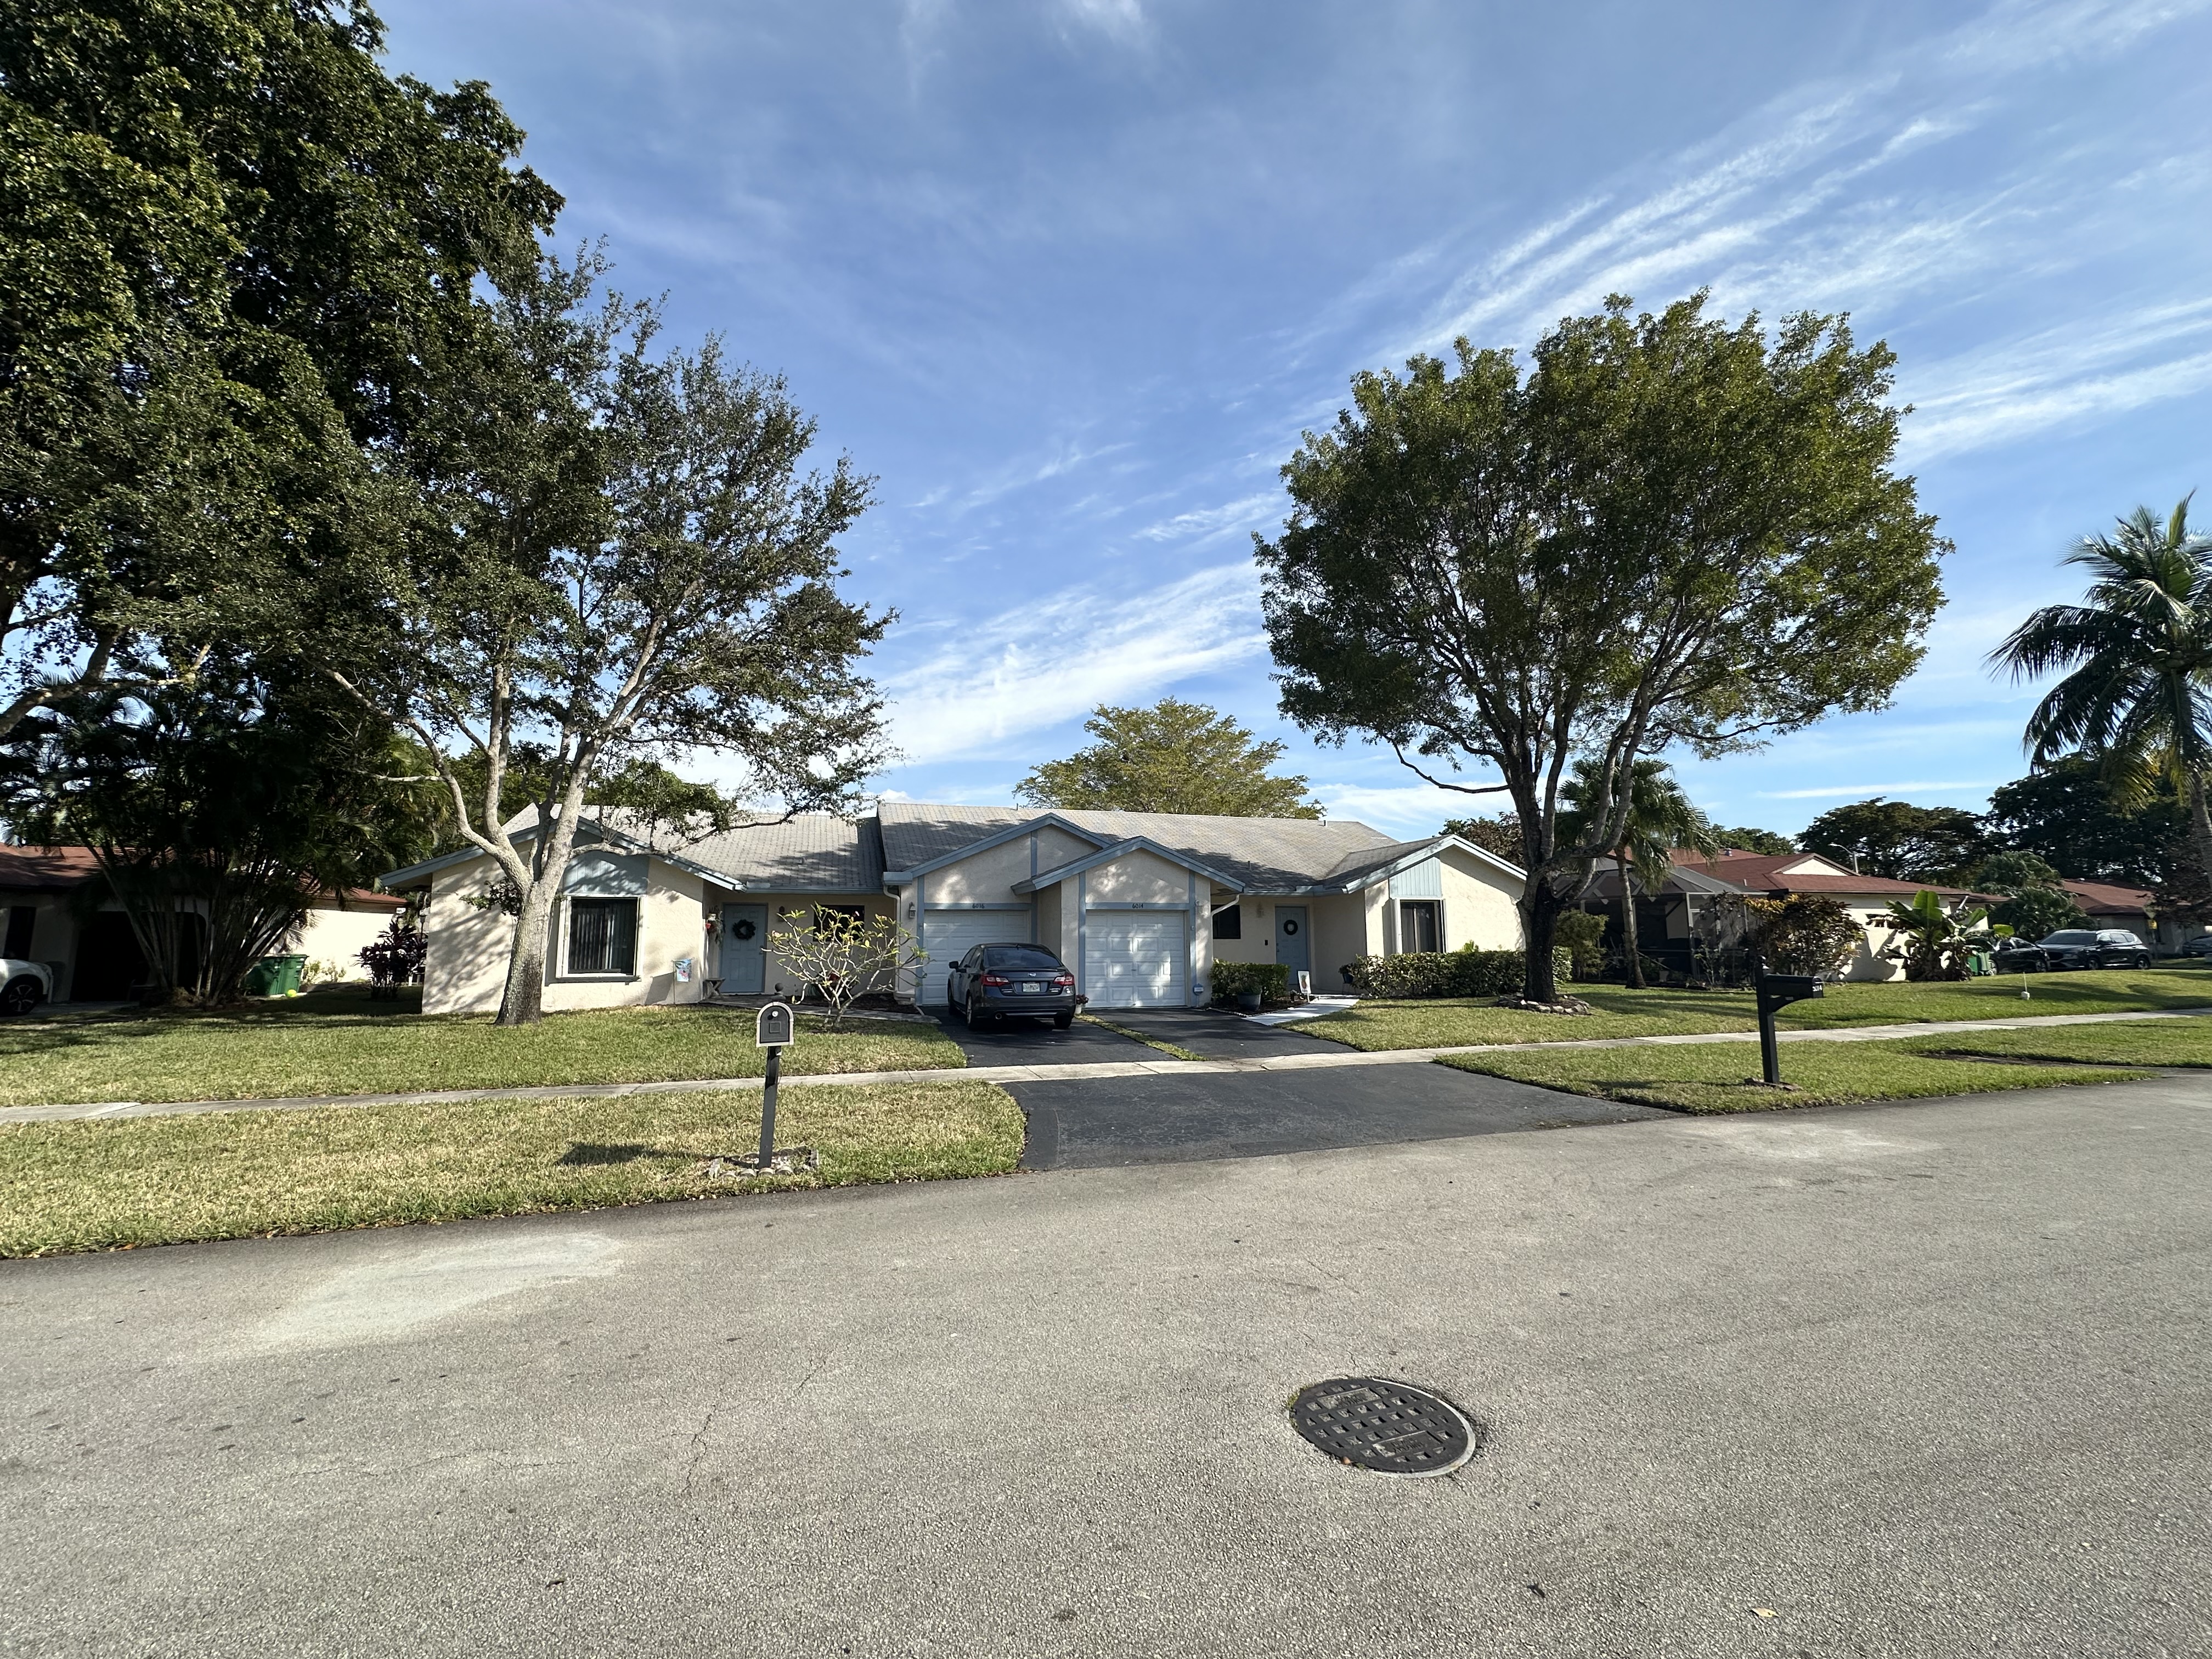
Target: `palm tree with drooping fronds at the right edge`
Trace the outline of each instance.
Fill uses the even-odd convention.
[[[2161,526],[2137,507],[2112,535],[2066,555],[2090,571],[2081,604],[2053,604],[1991,653],[2013,679],[2070,668],[2028,717],[2035,765],[2101,761],[2115,803],[2139,805],[2159,774],[2190,801],[2190,838],[2212,872],[2212,535],[2190,533],[2190,495]]]

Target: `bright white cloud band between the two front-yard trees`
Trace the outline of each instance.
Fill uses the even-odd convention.
[[[1141,582],[1137,597],[1084,586],[953,630],[885,677],[898,748],[914,763],[1004,754],[1009,739],[1097,703],[1130,701],[1267,655],[1250,562]]]

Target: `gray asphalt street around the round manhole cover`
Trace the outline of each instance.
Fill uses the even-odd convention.
[[[4,1263],[0,1652],[2203,1655],[2208,1177],[2161,1079]]]

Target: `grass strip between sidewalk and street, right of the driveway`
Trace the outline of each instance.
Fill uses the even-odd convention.
[[[1973,1033],[1975,1037],[1984,1033]],[[1936,1042],[1936,1040],[1929,1040]],[[1666,1106],[1677,1113],[1772,1113],[1801,1106],[1845,1106],[1867,1099],[1986,1095],[2002,1088],[2110,1084],[2148,1071],[1982,1060],[1911,1053],[1907,1042],[1794,1042],[1783,1046],[1783,1077],[1794,1088],[1759,1082],[1759,1044],[1719,1042],[1663,1048],[1553,1048],[1453,1055],[1438,1064],[1511,1077],[1571,1095]]]

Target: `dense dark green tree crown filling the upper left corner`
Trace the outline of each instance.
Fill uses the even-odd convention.
[[[482,84],[343,0],[0,7],[0,741],[290,619],[363,445],[436,400],[471,283],[560,206]]]

